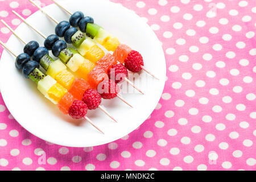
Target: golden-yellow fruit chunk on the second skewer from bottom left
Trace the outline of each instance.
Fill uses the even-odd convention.
[[[58,75],[56,75],[55,80],[62,86],[64,86],[65,89],[69,90],[73,84],[73,81],[75,80],[75,76],[67,69],[64,69],[61,71]]]

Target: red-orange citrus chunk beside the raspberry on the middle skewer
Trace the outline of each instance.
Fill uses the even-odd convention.
[[[94,67],[93,71],[88,74],[88,82],[93,88],[97,88],[98,84],[108,79],[108,75],[101,67]]]

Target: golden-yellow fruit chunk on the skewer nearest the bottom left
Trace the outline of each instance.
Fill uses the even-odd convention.
[[[47,92],[46,97],[50,98],[52,101],[59,103],[61,98],[68,92],[67,89],[65,89],[60,84],[56,83],[53,85]]]

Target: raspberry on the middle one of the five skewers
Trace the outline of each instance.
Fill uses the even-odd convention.
[[[98,93],[104,99],[112,99],[117,97],[119,86],[113,80],[104,80],[98,85]]]

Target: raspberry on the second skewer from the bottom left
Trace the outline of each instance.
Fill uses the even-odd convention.
[[[101,95],[95,89],[88,89],[85,91],[82,101],[88,106],[88,109],[97,109],[101,104]]]

